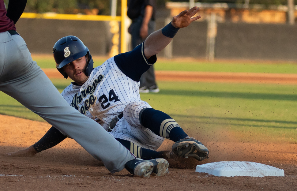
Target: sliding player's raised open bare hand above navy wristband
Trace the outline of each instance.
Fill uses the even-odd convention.
[[[201,18],[201,15],[193,17],[196,13],[199,12],[199,10],[200,8],[195,6],[192,9],[182,11],[181,13],[179,13],[179,15],[173,17],[171,21],[172,26],[174,26],[175,28],[184,28],[189,26],[191,22]]]

